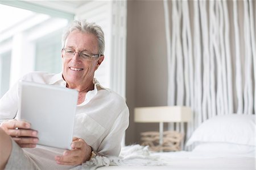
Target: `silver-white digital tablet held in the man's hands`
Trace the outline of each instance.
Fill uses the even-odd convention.
[[[20,81],[18,119],[38,131],[38,144],[71,149],[78,92],[55,85]]]

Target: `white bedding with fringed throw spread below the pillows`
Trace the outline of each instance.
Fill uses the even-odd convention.
[[[76,169],[255,169],[254,154],[204,151],[150,152],[139,145],[122,148],[121,156],[101,157]]]

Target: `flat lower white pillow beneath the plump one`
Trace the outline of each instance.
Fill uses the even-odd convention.
[[[255,154],[255,146],[221,142],[204,142],[197,145],[193,152],[226,152],[239,154]]]

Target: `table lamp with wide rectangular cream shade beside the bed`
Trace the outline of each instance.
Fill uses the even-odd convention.
[[[164,122],[189,122],[192,111],[187,106],[135,107],[134,121],[141,123],[159,122],[159,145],[163,145]]]

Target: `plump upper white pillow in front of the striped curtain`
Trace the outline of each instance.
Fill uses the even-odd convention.
[[[255,146],[255,115],[218,115],[203,122],[186,146],[195,142],[227,142]]]

